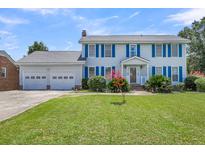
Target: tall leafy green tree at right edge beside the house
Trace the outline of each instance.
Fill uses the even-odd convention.
[[[205,73],[205,17],[194,21],[191,27],[185,27],[178,36],[189,39],[187,70]]]

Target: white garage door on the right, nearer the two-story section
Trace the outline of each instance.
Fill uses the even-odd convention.
[[[69,72],[51,72],[51,89],[68,90],[75,87],[75,76]]]

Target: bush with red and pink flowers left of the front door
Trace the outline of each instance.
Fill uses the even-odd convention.
[[[108,82],[108,89],[111,92],[129,92],[129,84],[127,80],[123,77],[113,77],[111,81]]]

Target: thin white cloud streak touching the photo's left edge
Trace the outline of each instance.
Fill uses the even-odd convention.
[[[19,24],[28,24],[29,23],[29,21],[26,19],[9,18],[9,17],[4,17],[4,16],[0,16],[0,22],[3,24],[8,24],[8,25],[19,25]]]

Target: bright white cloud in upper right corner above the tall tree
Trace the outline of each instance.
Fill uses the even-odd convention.
[[[165,22],[177,22],[175,25],[190,25],[195,20],[200,20],[205,16],[205,9],[189,9],[184,12],[171,14]]]

